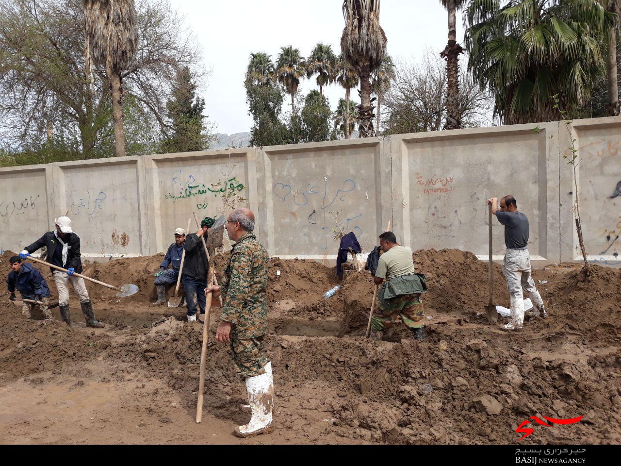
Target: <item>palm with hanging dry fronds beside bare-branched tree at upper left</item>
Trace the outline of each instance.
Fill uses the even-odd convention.
[[[84,37],[94,62],[106,68],[112,93],[117,157],[125,155],[122,71],[127,69],[138,47],[136,24],[134,0],[84,0]]]

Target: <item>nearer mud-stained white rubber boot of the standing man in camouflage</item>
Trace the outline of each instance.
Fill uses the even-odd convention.
[[[269,434],[272,431],[272,403],[274,385],[271,375],[265,372],[246,379],[248,401],[252,409],[252,418],[248,424],[235,429],[238,437],[254,437],[258,434]]]

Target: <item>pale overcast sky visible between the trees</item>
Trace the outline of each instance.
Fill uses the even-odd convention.
[[[211,70],[204,92],[206,113],[215,131],[250,131],[243,75],[251,52],[267,52],[275,60],[280,47],[292,44],[310,55],[317,42],[329,43],[338,55],[343,32],[342,0],[170,0],[185,16]],[[428,50],[440,53],[448,35],[446,11],[438,0],[383,0],[380,24],[388,37],[388,53],[418,59]],[[463,40],[458,13],[457,38]],[[463,44],[462,44],[463,45]],[[315,79],[302,81],[304,94],[317,88]],[[324,88],[330,106],[345,96],[337,85]],[[358,93],[352,90],[352,99]],[[290,99],[285,98],[285,102]],[[291,105],[283,107],[283,111]]]

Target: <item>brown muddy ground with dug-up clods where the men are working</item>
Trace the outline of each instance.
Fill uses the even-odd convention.
[[[3,282],[11,255],[0,257]],[[232,431],[248,419],[238,409],[245,386],[213,338],[217,309],[203,421],[194,423],[202,326],[184,322],[183,308],[150,306],[161,260],[86,265],[85,275],[140,286],[119,299],[87,282],[104,329],[84,326],[73,293],[73,327],[58,308],[52,321],[26,321],[20,306],[0,299],[2,444],[517,444],[515,429],[530,416],[584,417],[533,422],[519,444],[621,443],[620,270],[536,270],[550,317],[507,334],[477,316],[487,303],[486,263],[460,250],[417,251],[429,290],[427,337],[415,342],[399,324],[375,342],[364,337],[368,273],[347,274],[342,290],[324,299],[338,283],[333,268],[272,258],[266,345],[275,429],[242,440]],[[35,267],[55,296],[49,270]],[[509,307],[500,265],[494,302]]]

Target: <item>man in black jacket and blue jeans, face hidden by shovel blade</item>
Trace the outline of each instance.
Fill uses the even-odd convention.
[[[202,247],[201,236],[207,235],[214,224],[214,219],[205,217],[201,222],[201,227],[196,234],[190,233],[186,236],[183,249],[186,251],[186,260],[183,263],[183,291],[186,294],[186,304],[188,304],[188,322],[196,322],[197,304],[201,308],[201,314],[205,314],[205,293],[207,286],[207,271],[209,262],[205,249]]]

